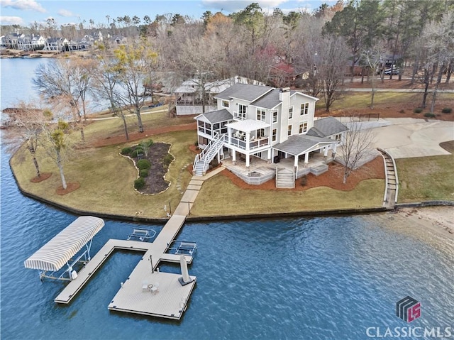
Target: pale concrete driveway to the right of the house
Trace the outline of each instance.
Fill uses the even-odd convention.
[[[375,146],[387,150],[394,158],[449,155],[439,146],[454,140],[453,121],[413,118],[387,119],[392,125],[375,128]]]

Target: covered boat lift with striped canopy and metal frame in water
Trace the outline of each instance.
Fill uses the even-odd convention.
[[[24,261],[25,267],[39,270],[40,280],[74,280],[77,278],[74,265],[90,261],[93,237],[103,226],[103,219],[80,216]],[[65,265],[67,268],[61,272]]]

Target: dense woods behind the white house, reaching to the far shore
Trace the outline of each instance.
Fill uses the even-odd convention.
[[[354,75],[380,74],[383,81],[405,75],[411,84],[426,87],[421,107],[426,107],[428,88],[434,88],[433,109],[438,85],[449,82],[454,68],[453,12],[453,0],[339,0],[313,13],[287,14],[280,9],[265,13],[253,3],[228,16],[210,11],[199,19],[179,13],[157,15],[154,21],[148,15],[106,16],[107,26],[89,20],[88,26],[82,22],[60,28],[52,19],[20,29],[67,39],[104,37],[95,43],[92,65],[84,65],[84,79],[111,102],[113,112],[133,106],[140,126],[142,85],[153,92],[163,83],[175,88],[196,79],[204,92],[207,82],[236,75],[303,89],[322,97],[326,111],[338,98],[345,76],[353,81]],[[118,35],[120,45],[108,38]],[[106,77],[115,84],[103,91]]]

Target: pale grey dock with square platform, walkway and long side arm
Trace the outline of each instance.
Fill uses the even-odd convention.
[[[55,302],[70,303],[114,250],[141,251],[144,253],[143,258],[128,279],[124,283],[118,283],[121,288],[108,308],[119,312],[179,319],[186,310],[196,278],[190,276],[192,282],[181,285],[181,274],[162,273],[157,271],[157,266],[161,261],[179,263],[182,256],[186,263],[192,263],[192,256],[166,253],[185,219],[186,216],[171,216],[153,243],[110,239],[77,273],[77,278],[55,297]]]

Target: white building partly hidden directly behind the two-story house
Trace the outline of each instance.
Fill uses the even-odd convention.
[[[194,77],[183,82],[175,89],[175,107],[177,116],[200,114],[217,108],[216,95],[233,84],[262,84],[246,77],[231,77],[228,79],[208,82],[201,77]]]

